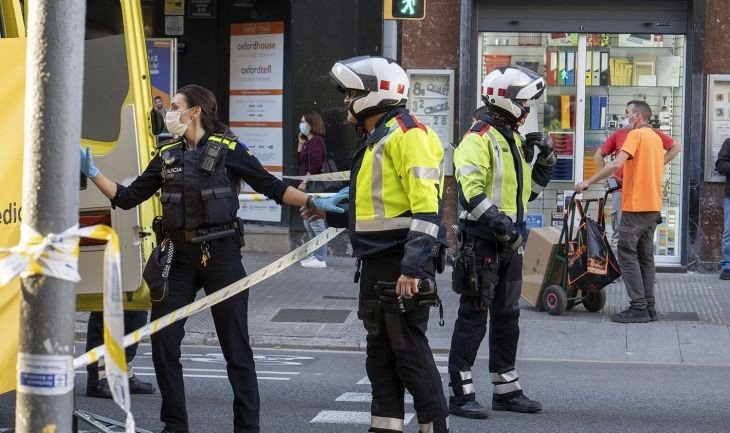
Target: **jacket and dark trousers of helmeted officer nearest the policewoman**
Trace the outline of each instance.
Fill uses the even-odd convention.
[[[362,262],[358,316],[368,332],[370,432],[403,431],[405,389],[422,432],[448,431],[441,377],[425,335],[429,308],[414,302],[405,313],[384,311],[375,290],[401,274],[434,277],[431,252],[445,243],[442,156],[433,130],[404,108],[391,110],[355,153],[348,212],[327,214],[330,226],[349,228],[353,255]]]

